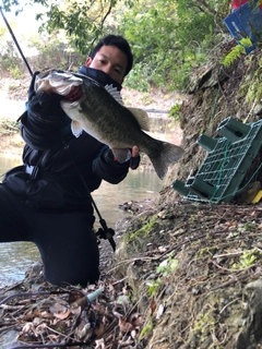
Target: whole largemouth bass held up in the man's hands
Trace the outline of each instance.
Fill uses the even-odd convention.
[[[112,85],[104,87],[88,76],[60,70],[44,71],[35,81],[36,93],[45,91],[67,96],[73,86],[80,86],[82,97],[73,103],[64,98],[60,104],[72,119],[71,128],[75,136],[84,130],[107,144],[119,163],[127,161],[131,157],[130,149],[136,145],[150,157],[160,179],[167,173],[169,164],[183,154],[181,147],[145,133],[150,131],[147,113],[142,109],[124,107],[120,93]]]

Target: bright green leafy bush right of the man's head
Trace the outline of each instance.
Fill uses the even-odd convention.
[[[118,21],[140,63],[138,81],[170,91],[187,88],[192,69],[206,62],[219,40],[213,14],[193,1],[141,1]],[[127,84],[138,88],[129,77]]]

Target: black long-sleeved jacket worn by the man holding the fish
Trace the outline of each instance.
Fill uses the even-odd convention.
[[[129,161],[116,161],[108,146],[86,132],[75,137],[71,132],[71,119],[60,107],[60,96],[44,92],[35,95],[35,75],[27,110],[20,119],[26,143],[24,166],[9,171],[3,183],[38,209],[87,209],[92,213],[86,186],[92,192],[102,180],[119,183],[129,171]],[[32,174],[27,173],[27,166],[35,167]]]

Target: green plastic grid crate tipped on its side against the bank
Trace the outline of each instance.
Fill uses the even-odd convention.
[[[262,145],[262,120],[243,124],[229,117],[212,139],[201,135],[198,143],[209,155],[187,182],[175,180],[172,188],[184,198],[210,203],[229,202],[239,189]]]

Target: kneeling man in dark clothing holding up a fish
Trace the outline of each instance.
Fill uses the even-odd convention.
[[[97,44],[79,72],[120,91],[132,63],[127,40],[109,35]],[[84,287],[99,278],[88,191],[97,189],[102,180],[114,184],[122,181],[130,167],[139,166],[139,148],[134,146],[131,159],[120,164],[108,146],[90,134],[83,132],[76,139],[71,120],[60,107],[62,97],[35,94],[36,75],[29,86],[27,110],[21,117],[26,143],[24,166],[5,173],[0,184],[0,242],[34,242],[47,281]],[[79,88],[66,96],[71,101],[80,97]]]

